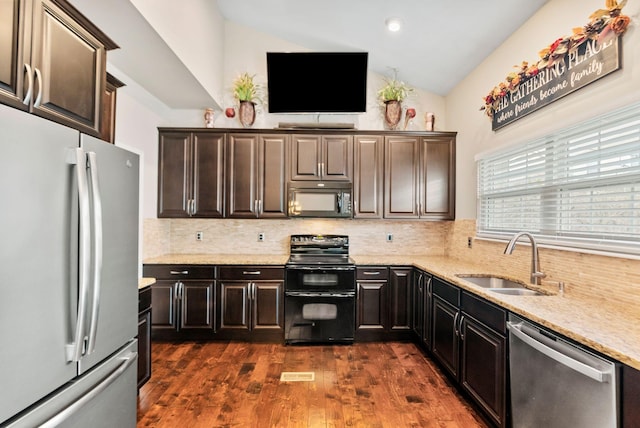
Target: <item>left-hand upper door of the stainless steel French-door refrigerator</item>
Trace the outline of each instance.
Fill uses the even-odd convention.
[[[77,199],[70,128],[0,105],[0,425],[77,373]],[[74,308],[74,310],[71,310]]]

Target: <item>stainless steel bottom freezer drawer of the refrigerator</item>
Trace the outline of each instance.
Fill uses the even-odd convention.
[[[6,428],[135,427],[137,349],[137,341],[129,342],[111,358],[12,419]]]

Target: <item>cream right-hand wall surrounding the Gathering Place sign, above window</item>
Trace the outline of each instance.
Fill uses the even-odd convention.
[[[604,7],[603,0],[553,0],[516,31],[446,98],[447,124],[458,131],[456,217],[476,217],[478,153],[541,137],[599,114],[640,100],[640,5],[629,2],[622,13],[632,23],[622,37],[622,68],[535,113],[493,132],[491,121],[479,111],[489,91],[522,61],[534,63],[538,52],[573,27],[589,22]],[[478,23],[482,25],[482,23]]]

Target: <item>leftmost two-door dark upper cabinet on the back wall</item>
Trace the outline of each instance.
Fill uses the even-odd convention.
[[[161,132],[158,217],[224,215],[224,132]]]

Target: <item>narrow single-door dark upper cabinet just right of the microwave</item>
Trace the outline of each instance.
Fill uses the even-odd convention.
[[[384,138],[356,135],[353,143],[353,214],[355,218],[382,218]]]

